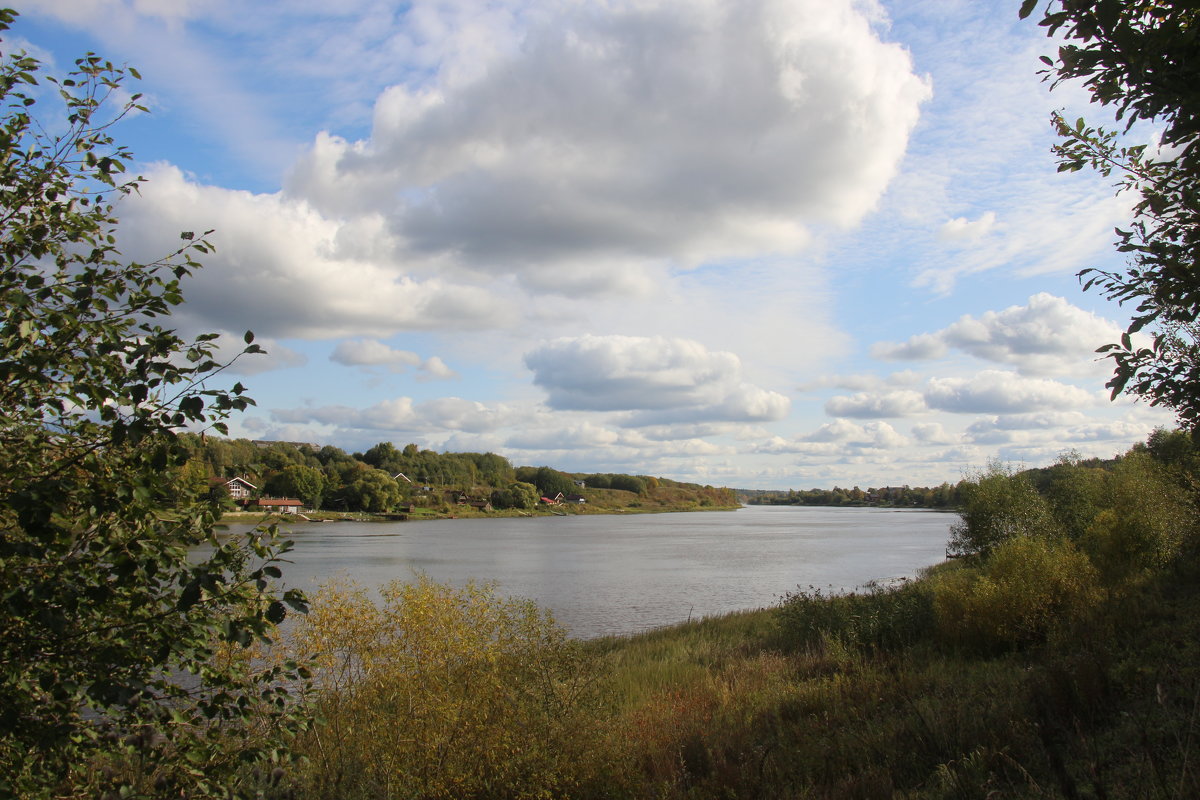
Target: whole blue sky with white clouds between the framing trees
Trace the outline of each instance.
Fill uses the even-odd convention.
[[[1104,387],[1133,199],[1057,173],[1104,116],[1019,5],[18,0],[2,50],[142,74],[119,243],[214,231],[173,323],[268,350],[232,435],[932,486],[1172,421]]]

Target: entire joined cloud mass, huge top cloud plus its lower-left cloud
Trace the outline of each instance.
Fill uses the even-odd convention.
[[[864,7],[545,4],[472,50],[434,24],[452,10],[416,2],[370,137],[317,136],[270,194],[157,168],[124,243],[152,255],[164,231],[216,228],[188,311],[313,338],[508,325],[497,278],[644,294],[791,253],[876,205],[930,94]]]

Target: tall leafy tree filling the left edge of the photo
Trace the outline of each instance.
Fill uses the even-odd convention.
[[[305,601],[271,585],[274,529],[218,540],[216,506],[178,481],[178,433],[223,433],[251,401],[206,383],[215,335],[161,324],[204,239],[120,260],[112,198],[139,179],[109,130],[139,107],[106,101],[137,73],[76,64],[42,78],[65,106],[44,125],[38,62],[0,64],[0,796],[250,793],[248,766],[302,726],[300,673],[241,656]]]

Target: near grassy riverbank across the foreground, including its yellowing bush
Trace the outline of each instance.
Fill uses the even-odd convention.
[[[487,590],[412,589],[366,639],[318,599],[326,650],[425,655],[324,697],[299,796],[1196,796],[1195,564],[1008,646],[940,619],[978,569],[583,643]]]

